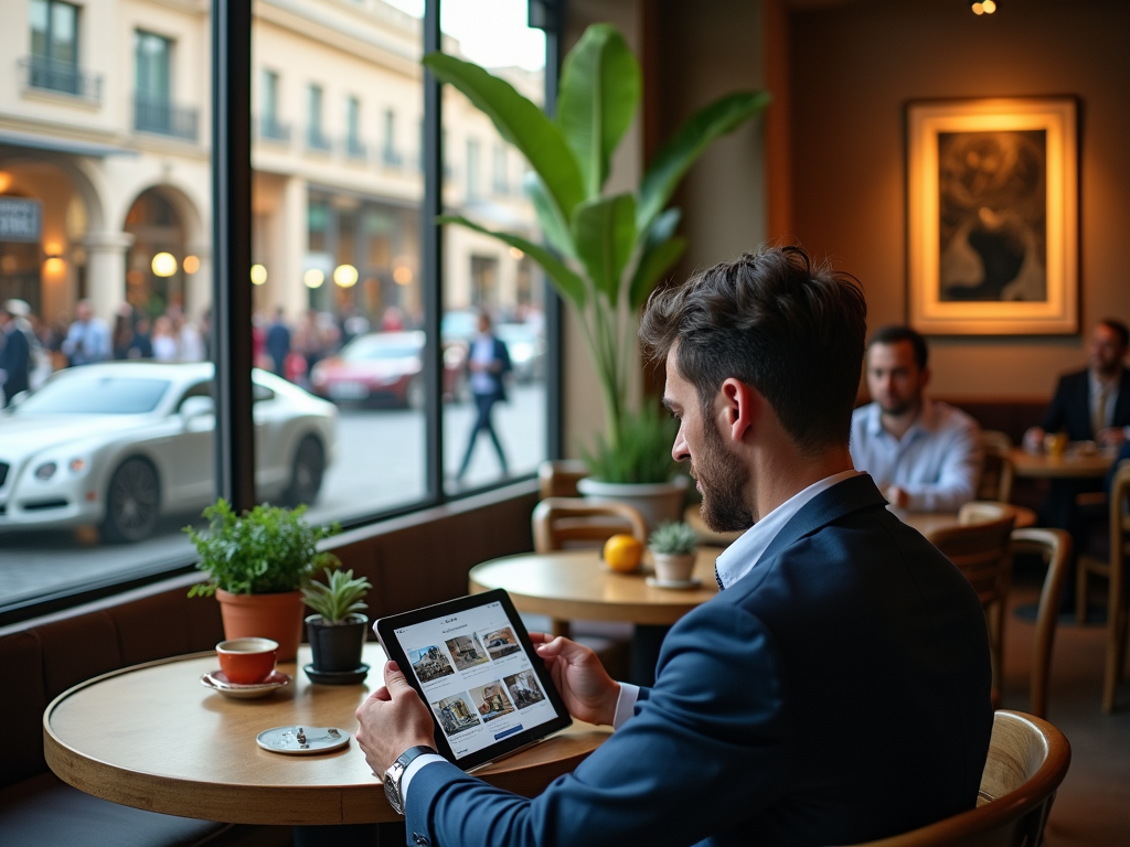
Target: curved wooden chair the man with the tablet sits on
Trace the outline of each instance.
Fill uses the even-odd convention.
[[[1071,745],[1054,726],[998,711],[976,809],[855,847],[1037,847],[1070,765]]]

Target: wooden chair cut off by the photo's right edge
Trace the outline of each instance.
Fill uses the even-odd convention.
[[[1114,710],[1114,695],[1122,679],[1127,647],[1127,557],[1130,555],[1130,464],[1119,468],[1111,486],[1110,501],[1111,558],[1101,561],[1079,556],[1076,562],[1075,614],[1080,623],[1087,620],[1088,577],[1104,576],[1110,580],[1106,597],[1106,672],[1103,678],[1103,711]]]

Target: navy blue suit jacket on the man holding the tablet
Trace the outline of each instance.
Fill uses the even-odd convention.
[[[454,765],[408,791],[408,842],[803,845],[975,805],[992,733],[984,617],[868,475],[810,500],[668,634],[637,714],[533,800]]]

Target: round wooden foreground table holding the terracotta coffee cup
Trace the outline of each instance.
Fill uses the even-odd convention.
[[[211,652],[96,676],[56,697],[44,713],[47,765],[88,794],[185,818],[299,827],[401,821],[353,739],[344,750],[320,756],[282,756],[255,744],[255,735],[273,726],[337,726],[350,736],[357,731],[354,713],[382,684],[381,646],[365,645],[372,670],[362,686],[315,686],[298,670],[308,662],[303,645],[297,663],[278,665],[294,678],[290,684],[255,700],[228,699],[200,684],[201,674],[218,667]],[[476,772],[533,795],[607,735],[574,724]]]

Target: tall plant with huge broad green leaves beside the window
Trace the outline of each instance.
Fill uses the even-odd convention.
[[[477,64],[444,53],[427,54],[424,64],[462,91],[525,156],[533,169],[525,187],[549,247],[459,216],[440,220],[490,235],[541,265],[577,315],[603,395],[606,446],[620,451],[636,437],[626,426],[636,315],[686,248],[686,239],[675,234],[680,212],[667,208],[668,200],[715,139],[768,105],[768,93],[739,91],[705,106],[655,154],[634,192],[606,197],[612,152],[632,123],[642,89],[640,64],[615,27],[590,26],[570,51],[554,117]],[[669,448],[670,443],[663,452]],[[598,447],[598,455],[603,452]],[[662,473],[659,479],[644,479],[649,474],[641,471],[627,475],[666,482],[671,469]]]

